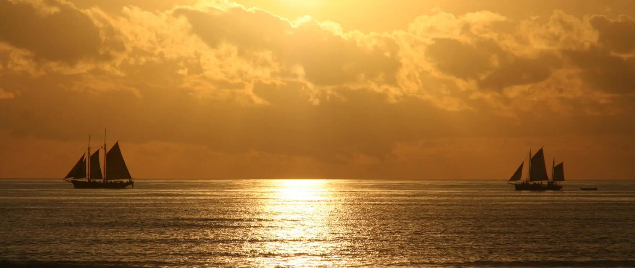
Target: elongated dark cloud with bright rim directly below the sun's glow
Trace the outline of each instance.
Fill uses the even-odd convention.
[[[359,76],[366,79],[384,77],[385,83],[395,83],[401,66],[398,45],[391,37],[372,37],[375,45],[360,46],[356,39],[347,39],[324,30],[314,20],[291,27],[287,20],[261,10],[232,8],[228,11],[178,9],[176,16],[185,16],[194,34],[211,48],[227,42],[246,51],[272,51],[289,65],[304,67],[307,79],[319,85],[354,83]]]

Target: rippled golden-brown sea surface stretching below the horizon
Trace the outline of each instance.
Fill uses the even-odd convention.
[[[634,181],[135,182],[0,180],[0,267],[635,267]]]

